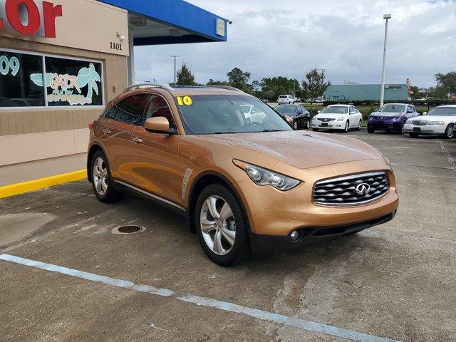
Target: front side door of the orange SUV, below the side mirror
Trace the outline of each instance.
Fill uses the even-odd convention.
[[[152,94],[145,105],[142,123],[133,131],[133,185],[177,204],[182,188],[182,177],[178,173],[180,135],[151,133],[144,128],[145,120],[160,116],[168,119],[170,128],[176,129],[167,100]]]

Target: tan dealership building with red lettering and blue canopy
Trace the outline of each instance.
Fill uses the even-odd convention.
[[[227,20],[182,0],[0,0],[0,166],[86,152],[135,83],[134,46],[226,40]]]

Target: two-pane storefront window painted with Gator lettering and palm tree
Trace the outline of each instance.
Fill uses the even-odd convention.
[[[103,104],[100,62],[0,50],[0,108]]]

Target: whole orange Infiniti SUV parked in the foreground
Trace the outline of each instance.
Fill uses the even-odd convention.
[[[244,106],[256,108],[247,120]],[[133,190],[184,214],[223,266],[393,219],[390,163],[370,145],[294,130],[229,87],[136,85],[90,125],[88,179],[113,202]]]

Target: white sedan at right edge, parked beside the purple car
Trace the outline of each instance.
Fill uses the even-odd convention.
[[[423,117],[408,119],[404,125],[405,133],[413,138],[418,135],[437,134],[451,139],[455,137],[455,128],[456,105],[441,105],[429,113],[423,113]]]

